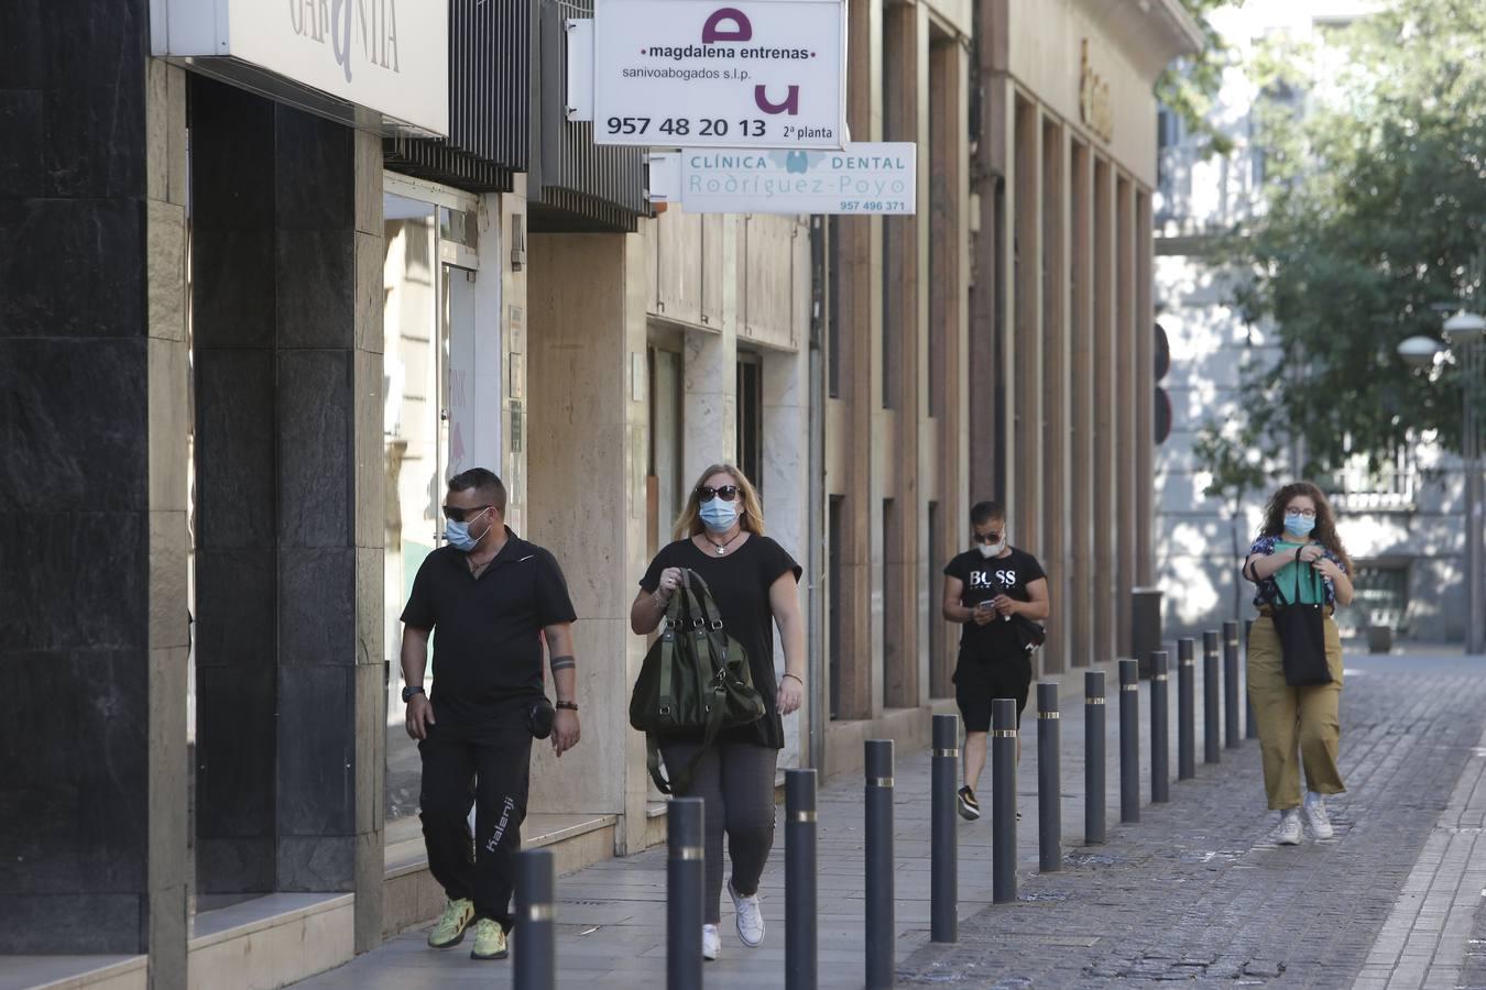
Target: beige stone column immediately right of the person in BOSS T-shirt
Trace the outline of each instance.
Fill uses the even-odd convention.
[[[1068,142],[1061,125],[1042,126],[1042,551],[1052,620],[1042,672],[1068,666]]]

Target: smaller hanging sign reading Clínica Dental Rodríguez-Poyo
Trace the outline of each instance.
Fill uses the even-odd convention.
[[[917,145],[843,151],[688,148],[651,154],[651,199],[690,214],[912,214]]]

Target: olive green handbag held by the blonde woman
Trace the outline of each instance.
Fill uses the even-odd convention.
[[[747,653],[722,629],[707,582],[694,570],[681,574],[660,638],[645,655],[630,696],[630,726],[645,733],[645,766],[661,794],[690,787],[691,773],[719,732],[764,717]],[[701,738],[701,748],[685,767],[667,767],[669,782],[660,772],[660,742],[667,736]]]

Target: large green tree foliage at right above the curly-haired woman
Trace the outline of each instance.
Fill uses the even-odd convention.
[[[1247,451],[1297,438],[1306,476],[1358,456],[1376,471],[1428,433],[1458,450],[1453,358],[1419,373],[1395,349],[1437,338],[1446,306],[1483,307],[1486,4],[1398,0],[1254,70],[1266,211],[1227,260],[1253,272],[1236,303],[1281,358],[1250,370],[1238,416],[1204,430],[1210,494],[1256,485],[1256,468],[1274,472]]]

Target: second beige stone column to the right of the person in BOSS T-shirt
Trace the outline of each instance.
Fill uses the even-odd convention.
[[[1071,451],[1068,468],[1071,524],[1071,567],[1068,571],[1068,603],[1060,607],[1070,635],[1074,666],[1097,659],[1094,644],[1094,533],[1098,521],[1095,503],[1103,502],[1098,490],[1094,457],[1095,420],[1095,245],[1094,245],[1094,156],[1089,145],[1074,141],[1071,157],[1070,209],[1071,245],[1070,279],[1071,309],[1070,338],[1070,416]]]

